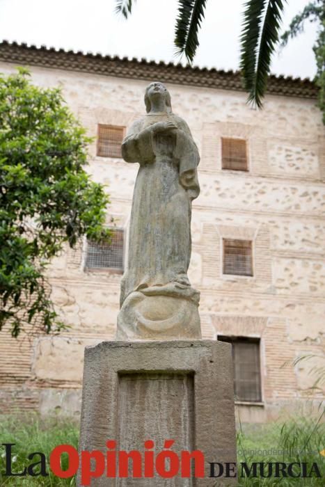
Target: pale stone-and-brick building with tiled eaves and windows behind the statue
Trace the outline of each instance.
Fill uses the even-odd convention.
[[[325,134],[311,81],[271,77],[264,109],[246,104],[238,73],[0,44],[0,70],[30,67],[61,86],[88,134],[93,179],[107,185],[110,246],[81,241],[51,264],[52,298],[70,330],[0,333],[0,407],[79,415],[84,347],[111,340],[127,264],[137,164],[120,142],[143,115],[150,81],[166,83],[173,111],[200,152],[193,202],[191,284],[203,337],[232,343],[241,421],[264,422],[317,405],[324,388]],[[301,356],[308,360],[296,363]]]

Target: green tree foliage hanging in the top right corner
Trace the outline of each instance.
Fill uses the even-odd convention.
[[[323,112],[323,123],[325,125],[325,2],[314,0],[308,3],[301,13],[292,19],[289,29],[281,37],[281,47],[287,45],[290,38],[296,37],[303,32],[305,21],[318,24],[317,38],[314,47],[317,64],[316,83],[319,86],[319,108]]]

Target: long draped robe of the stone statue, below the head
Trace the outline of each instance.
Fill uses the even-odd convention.
[[[171,121],[177,130],[153,134],[148,127]],[[197,198],[198,149],[186,122],[173,113],[134,122],[122,157],[138,162],[129,227],[128,268],[120,305],[134,291],[183,296],[198,303],[187,278],[191,258],[191,201]]]

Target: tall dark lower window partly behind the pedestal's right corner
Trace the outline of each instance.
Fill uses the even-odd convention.
[[[218,340],[232,344],[235,401],[262,401],[260,340],[223,336]]]

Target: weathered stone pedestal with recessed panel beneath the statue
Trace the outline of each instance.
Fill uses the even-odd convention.
[[[230,344],[207,340],[102,342],[86,348],[81,450],[200,450],[205,478],[93,479],[91,486],[194,487],[236,484],[209,478],[209,462],[235,462],[235,413]],[[129,462],[132,467],[132,461]],[[166,463],[168,465],[168,462]],[[129,472],[132,471],[130,467]],[[223,483],[224,482],[224,483]],[[79,481],[79,484],[80,481]]]

